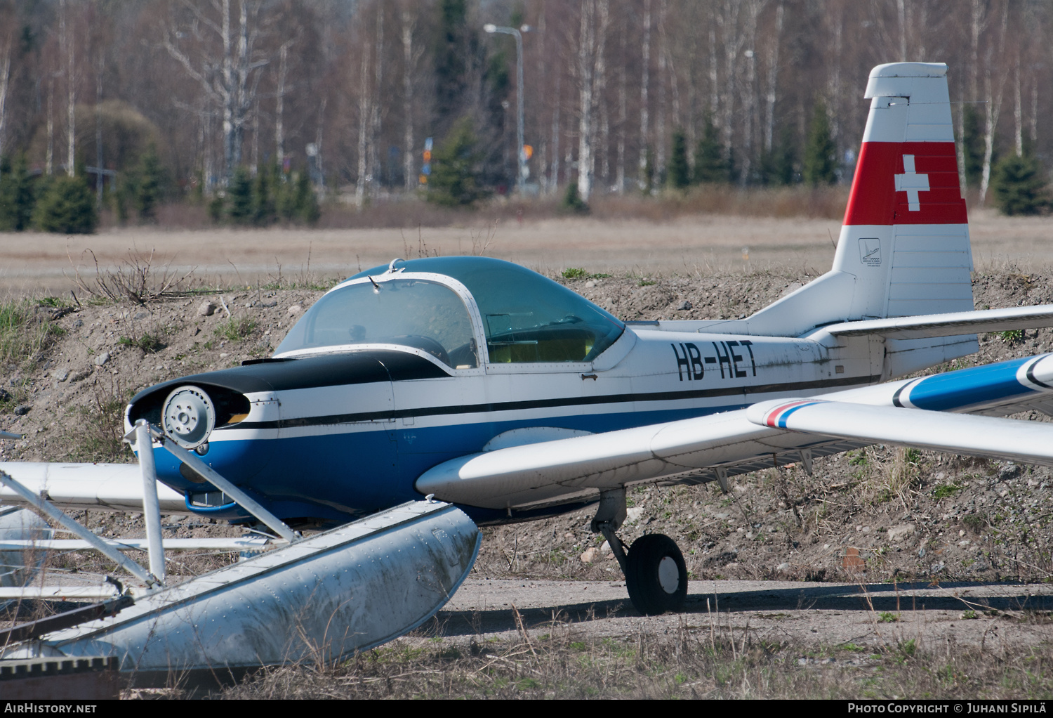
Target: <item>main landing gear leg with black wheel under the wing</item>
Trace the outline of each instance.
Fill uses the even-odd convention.
[[[648,616],[681,610],[688,597],[688,567],[676,542],[661,533],[647,533],[627,554],[615,535],[624,521],[625,489],[601,492],[591,527],[611,544],[633,606]]]

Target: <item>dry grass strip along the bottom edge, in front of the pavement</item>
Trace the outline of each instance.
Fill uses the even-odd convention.
[[[585,637],[553,621],[531,643],[418,635],[335,666],[265,670],[221,698],[1042,698],[1053,651],[900,639],[803,646],[680,621],[668,636]]]

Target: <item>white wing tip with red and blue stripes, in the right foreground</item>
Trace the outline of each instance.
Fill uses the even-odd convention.
[[[758,426],[1053,466],[1053,425],[809,399],[754,404]]]

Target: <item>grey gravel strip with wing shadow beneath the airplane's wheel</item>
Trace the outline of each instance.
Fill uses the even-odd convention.
[[[513,638],[519,632],[513,606],[532,637],[551,632],[556,621],[590,637],[749,630],[753,640],[874,648],[911,639],[929,649],[1053,639],[1053,585],[1011,582],[692,581],[683,614],[641,617],[623,581],[473,578],[438,614],[439,633]]]

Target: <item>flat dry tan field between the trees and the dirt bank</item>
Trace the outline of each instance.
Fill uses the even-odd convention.
[[[0,234],[0,295],[68,295],[76,276],[94,277],[154,252],[155,270],[187,284],[255,286],[313,276],[347,276],[395,257],[484,254],[545,273],[567,267],[592,272],[698,275],[780,268],[820,273],[830,268],[840,220],[692,214],[662,219],[547,218],[488,220],[419,229],[264,230],[117,228],[95,235]],[[977,267],[1011,260],[1053,261],[1053,219],[974,211]]]

